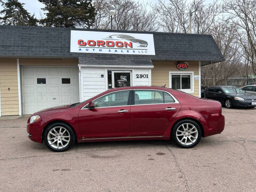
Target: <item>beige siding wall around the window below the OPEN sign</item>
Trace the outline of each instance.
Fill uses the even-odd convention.
[[[199,62],[198,61],[186,61],[189,66],[187,71],[194,71],[194,75],[199,75]],[[155,86],[169,86],[169,72],[170,71],[180,71],[176,68],[176,63],[174,61],[153,61],[154,68],[151,71],[151,84]],[[194,80],[194,93],[192,94],[199,97],[199,81]]]

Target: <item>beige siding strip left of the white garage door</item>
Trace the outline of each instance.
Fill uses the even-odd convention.
[[[0,59],[0,87],[2,116],[19,115],[17,59]]]

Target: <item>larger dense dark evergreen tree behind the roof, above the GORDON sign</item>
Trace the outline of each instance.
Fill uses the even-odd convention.
[[[44,26],[90,28],[95,20],[95,9],[91,0],[39,0],[45,4]]]

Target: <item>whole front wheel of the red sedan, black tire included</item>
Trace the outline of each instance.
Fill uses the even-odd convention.
[[[49,149],[63,152],[72,147],[76,141],[74,130],[66,123],[53,123],[47,126],[43,141]]]

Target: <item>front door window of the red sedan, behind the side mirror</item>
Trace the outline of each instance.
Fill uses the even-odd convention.
[[[94,100],[95,108],[98,107],[116,107],[126,106],[129,104],[129,93],[130,91],[117,91],[104,95]]]

